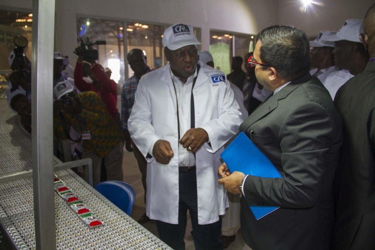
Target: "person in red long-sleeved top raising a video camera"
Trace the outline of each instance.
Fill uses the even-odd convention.
[[[100,96],[105,103],[108,112],[111,117],[120,124],[120,114],[118,113],[117,103],[117,84],[111,80],[99,64],[96,63],[94,58],[84,58],[85,48],[80,45],[75,49],[75,54],[78,55],[77,63],[74,69],[74,82],[78,90],[94,91]],[[89,70],[90,78],[92,82],[85,81],[83,78],[83,62],[87,61],[91,65]]]

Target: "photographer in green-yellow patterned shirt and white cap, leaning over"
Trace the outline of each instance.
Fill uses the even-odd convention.
[[[102,159],[104,158],[108,180],[123,180],[123,143],[120,128],[93,91],[77,95],[68,81],[54,87],[54,135],[57,139],[68,138],[83,141],[82,158],[91,158],[94,185],[100,182]],[[79,138],[71,138],[74,128]]]

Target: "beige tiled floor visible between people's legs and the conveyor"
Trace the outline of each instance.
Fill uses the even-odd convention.
[[[135,220],[138,220],[142,214],[145,213],[145,204],[143,202],[144,199],[144,190],[141,182],[141,172],[139,172],[138,164],[135,160],[134,154],[129,153],[128,151],[124,150],[124,159],[123,159],[123,172],[124,172],[124,182],[130,184],[135,189],[136,198],[133,206],[133,210],[131,213],[131,217]],[[151,233],[158,236],[156,223],[154,220],[150,222],[142,224],[145,228],[147,228]],[[185,246],[187,250],[195,250],[193,237],[190,234],[192,231],[191,221],[190,219],[187,221],[187,227],[185,232]],[[227,250],[240,250],[246,249],[251,250],[249,246],[243,241],[241,232],[238,232],[236,235],[236,240],[234,240]]]

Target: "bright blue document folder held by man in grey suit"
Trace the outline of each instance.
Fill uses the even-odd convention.
[[[267,156],[243,132],[240,132],[221,153],[221,157],[231,173],[240,171],[244,174],[260,177],[282,178]],[[257,220],[279,208],[269,206],[249,207]]]

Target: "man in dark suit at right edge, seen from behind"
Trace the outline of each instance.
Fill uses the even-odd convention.
[[[370,60],[337,92],[344,121],[338,167],[333,249],[375,249],[375,4],[363,19],[360,39]]]

